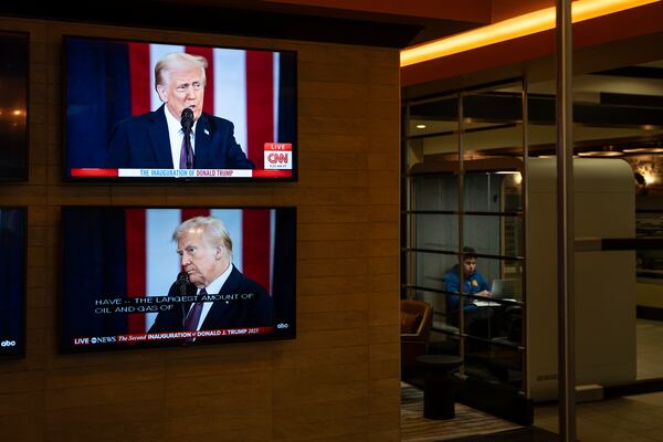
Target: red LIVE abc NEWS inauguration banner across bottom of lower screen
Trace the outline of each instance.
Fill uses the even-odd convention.
[[[103,344],[135,344],[159,340],[204,339],[231,336],[265,335],[273,333],[274,327],[245,327],[245,328],[219,328],[214,330],[197,332],[164,332],[164,333],[133,333],[116,336],[77,337],[74,338],[75,346],[103,345]]]

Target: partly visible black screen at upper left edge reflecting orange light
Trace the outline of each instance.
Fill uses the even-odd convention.
[[[0,31],[0,180],[28,179],[28,34]]]

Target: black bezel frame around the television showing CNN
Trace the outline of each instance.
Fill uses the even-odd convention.
[[[66,54],[66,40],[67,39],[83,39],[91,41],[112,41],[112,42],[125,42],[125,43],[146,43],[146,44],[171,44],[171,45],[191,45],[199,48],[212,48],[212,49],[231,49],[231,50],[240,50],[240,51],[264,51],[264,52],[280,52],[280,53],[288,53],[292,54],[293,60],[293,81],[294,81],[294,91],[293,91],[293,130],[294,130],[294,139],[292,140],[293,149],[292,149],[292,158],[293,158],[293,168],[292,175],[290,177],[251,177],[251,178],[223,178],[223,177],[214,177],[214,178],[136,178],[136,177],[72,177],[71,170],[67,169],[67,124],[66,124],[66,109],[67,109],[67,83],[66,83],[66,71],[67,71],[67,54]],[[299,130],[298,130],[298,92],[299,92],[299,76],[298,76],[298,56],[296,50],[278,50],[278,49],[270,49],[270,48],[257,48],[251,45],[212,45],[204,43],[196,43],[196,42],[181,42],[181,41],[158,41],[158,40],[147,40],[147,39],[124,39],[124,38],[112,38],[112,36],[91,36],[91,35],[77,35],[77,34],[63,34],[62,35],[62,180],[63,182],[83,182],[83,183],[131,183],[131,185],[150,185],[150,183],[210,183],[210,185],[222,185],[222,183],[262,183],[262,182],[297,182],[299,180]]]

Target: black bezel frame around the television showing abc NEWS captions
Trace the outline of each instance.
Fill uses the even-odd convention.
[[[63,204],[61,206],[61,221],[62,221],[62,211],[64,209],[94,209],[94,210],[104,210],[104,209],[175,209],[175,210],[185,210],[185,209],[220,209],[220,210],[274,210],[274,209],[288,209],[293,212],[293,295],[292,295],[292,324],[288,326],[287,334],[283,335],[241,335],[241,336],[229,336],[223,338],[209,338],[203,339],[196,344],[181,343],[177,340],[158,340],[150,343],[136,343],[136,344],[127,344],[127,345],[110,345],[110,346],[84,346],[80,348],[73,347],[72,344],[69,346],[64,346],[64,333],[63,333],[63,318],[64,318],[64,223],[61,222],[60,225],[60,265],[59,269],[59,301],[56,308],[56,326],[57,333],[56,336],[56,348],[57,352],[61,355],[76,355],[76,354],[91,354],[91,352],[107,352],[107,351],[125,351],[125,350],[149,350],[157,348],[209,348],[209,346],[223,346],[225,344],[244,344],[244,343],[270,343],[270,341],[280,341],[280,340],[294,340],[297,338],[297,207],[296,206],[144,206],[144,204],[126,204],[126,206],[113,206],[113,204],[104,204],[104,206],[91,206],[91,204]],[[277,318],[276,318],[277,319]]]

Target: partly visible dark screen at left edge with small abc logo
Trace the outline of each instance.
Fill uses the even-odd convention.
[[[25,352],[24,208],[0,208],[0,358]]]

